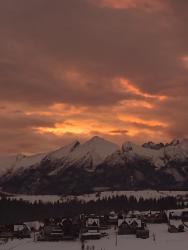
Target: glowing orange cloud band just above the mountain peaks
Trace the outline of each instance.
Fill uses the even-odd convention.
[[[126,87],[124,85],[125,91],[128,89],[136,95],[140,94],[132,85]],[[22,108],[21,119],[32,120],[32,131],[41,138],[50,136],[60,139],[67,135],[71,138],[88,138],[99,134],[115,142],[123,142],[129,137],[131,140],[141,138],[142,134],[147,134],[151,139],[163,138],[162,131],[159,133],[156,128],[160,127],[159,130],[162,130],[168,124],[159,117],[155,118],[153,113],[148,116],[148,112],[151,114],[153,109],[156,110],[157,103],[158,99],[156,102],[155,98],[148,98],[146,101],[124,100],[111,107],[85,107],[64,103],[55,103],[49,107],[7,105],[1,112],[7,114]],[[33,118],[39,119],[40,123],[35,124]],[[44,126],[41,125],[43,121]]]

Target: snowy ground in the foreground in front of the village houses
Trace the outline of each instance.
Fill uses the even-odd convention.
[[[92,249],[87,246],[94,246],[95,250],[187,250],[188,249],[188,230],[184,233],[170,234],[167,232],[167,225],[151,225],[150,238],[147,240],[137,239],[135,236],[118,236],[117,246],[115,233],[109,237],[96,241],[86,242],[86,250]],[[153,233],[156,241],[153,240]],[[79,250],[80,241],[74,242],[33,242],[32,240],[10,241],[6,245],[0,246],[0,250]]]

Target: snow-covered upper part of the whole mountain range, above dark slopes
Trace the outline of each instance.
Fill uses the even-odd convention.
[[[155,168],[160,169],[169,162],[188,161],[188,139],[176,139],[166,145],[149,142],[141,146],[126,142],[119,149],[116,144],[95,136],[83,144],[73,141],[48,153],[31,156],[0,156],[0,175],[5,174],[6,171],[16,172],[19,169],[37,166],[43,159],[51,162],[61,160],[61,166],[52,174],[57,174],[59,170],[69,166],[95,170],[96,166],[105,159],[112,166],[124,165],[127,160],[146,159]]]

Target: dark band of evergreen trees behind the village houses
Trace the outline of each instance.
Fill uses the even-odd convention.
[[[80,214],[107,214],[110,211],[128,212],[131,210],[167,210],[182,208],[174,197],[160,199],[136,199],[131,196],[113,196],[98,198],[96,201],[83,202],[77,199],[55,203],[2,198],[0,200],[0,224],[12,224],[24,221],[44,220],[46,218],[76,217]]]

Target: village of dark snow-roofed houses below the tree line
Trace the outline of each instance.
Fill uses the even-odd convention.
[[[132,237],[131,239],[134,241],[140,240],[139,244],[143,244],[142,242],[147,240],[156,244],[156,242],[160,242],[160,238],[158,231],[155,232],[153,229],[159,227],[165,235],[179,237],[183,234],[187,237],[188,210],[131,211],[127,214],[118,214],[112,211],[106,215],[81,214],[75,218],[54,217],[42,222],[32,221],[1,225],[0,249],[22,249],[17,248],[17,246],[26,242],[40,243],[41,247],[43,244],[46,247],[45,243],[47,242],[55,244],[65,242],[65,244],[77,244],[77,249],[81,250],[111,250],[119,249],[119,242],[122,239],[125,240],[122,237]],[[105,244],[105,248],[102,246],[100,248],[100,242],[102,244],[105,240],[111,240],[114,248],[107,244]],[[14,245],[15,242],[19,243]],[[138,241],[135,242],[138,243]],[[12,244],[13,246],[11,246]],[[45,247],[44,249],[46,249]]]

